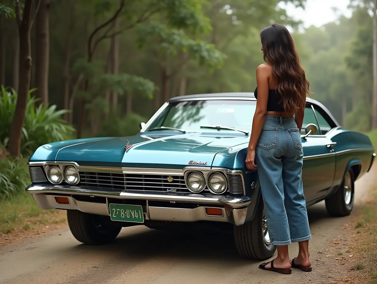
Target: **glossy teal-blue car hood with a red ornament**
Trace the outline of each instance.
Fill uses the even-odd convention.
[[[248,139],[248,135],[230,133],[188,133],[167,137],[140,134],[65,146],[58,149],[56,160],[143,168],[182,169],[190,164],[211,166],[216,153],[247,143]],[[129,149],[126,151],[127,140]]]

